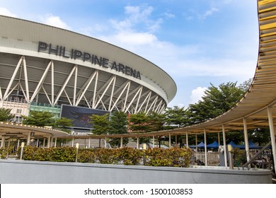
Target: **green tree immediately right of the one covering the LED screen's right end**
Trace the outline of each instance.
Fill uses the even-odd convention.
[[[110,116],[110,134],[127,134],[127,114],[125,112],[113,112]],[[120,147],[120,139],[110,139],[111,146]],[[122,139],[122,144],[127,145],[128,139]]]

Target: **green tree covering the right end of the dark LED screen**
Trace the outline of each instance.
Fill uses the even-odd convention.
[[[91,124],[93,124],[93,134],[106,134],[109,129],[109,114],[106,113],[105,115],[96,115],[93,114],[89,116],[91,119]],[[99,139],[99,147],[100,147],[100,139]]]

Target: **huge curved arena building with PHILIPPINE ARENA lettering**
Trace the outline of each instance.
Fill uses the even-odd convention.
[[[161,113],[176,83],[159,66],[108,42],[0,16],[0,107],[14,122],[31,110]],[[84,127],[85,128],[85,127]]]

